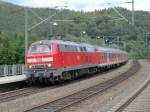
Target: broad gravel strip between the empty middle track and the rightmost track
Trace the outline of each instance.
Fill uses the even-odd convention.
[[[67,108],[63,112],[108,112],[113,106],[132,93],[142,82],[144,82],[144,80],[147,79],[147,77],[149,77],[150,63],[145,60],[140,60],[140,63],[142,68],[136,73],[136,75],[116,87],[107,90],[103,94]]]

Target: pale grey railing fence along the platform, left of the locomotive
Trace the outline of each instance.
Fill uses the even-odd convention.
[[[25,65],[0,65],[0,77],[22,75],[25,73]]]

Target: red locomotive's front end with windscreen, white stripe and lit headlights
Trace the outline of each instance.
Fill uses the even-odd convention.
[[[58,49],[55,43],[44,40],[33,43],[26,55],[28,78],[35,81],[43,81],[45,77],[51,77],[59,64]],[[54,61],[57,60],[57,61]]]

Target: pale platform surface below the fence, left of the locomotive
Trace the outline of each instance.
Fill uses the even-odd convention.
[[[24,81],[26,79],[27,78],[25,75],[5,76],[5,77],[0,77],[0,84],[19,82],[19,81]]]

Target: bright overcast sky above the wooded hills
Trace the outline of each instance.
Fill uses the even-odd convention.
[[[131,9],[132,0],[3,0],[13,4],[40,7],[40,8],[53,8],[55,6],[63,7],[67,4],[69,9],[93,11],[95,9],[103,9],[114,6],[121,6]],[[135,0],[135,10],[150,11],[150,0]]]

